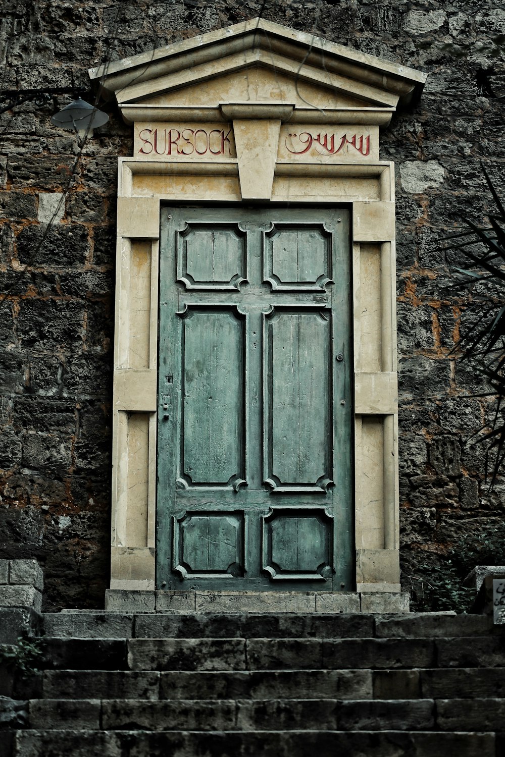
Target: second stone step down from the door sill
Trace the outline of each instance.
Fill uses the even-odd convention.
[[[43,668],[71,670],[341,670],[491,668],[505,637],[460,639],[42,639]]]

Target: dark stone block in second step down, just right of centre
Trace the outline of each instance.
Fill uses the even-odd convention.
[[[301,670],[323,667],[318,639],[248,639],[248,670]]]

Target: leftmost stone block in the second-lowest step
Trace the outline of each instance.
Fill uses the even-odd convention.
[[[46,730],[100,728],[99,699],[31,699],[28,727]]]

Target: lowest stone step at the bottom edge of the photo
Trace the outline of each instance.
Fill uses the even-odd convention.
[[[494,733],[439,733],[433,731],[17,731],[12,757],[338,757],[416,755],[416,757],[491,757],[499,754]],[[9,749],[10,746],[10,749]],[[10,757],[10,755],[9,755]]]

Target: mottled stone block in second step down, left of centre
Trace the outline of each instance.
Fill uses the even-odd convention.
[[[245,670],[244,639],[131,639],[132,670]]]

